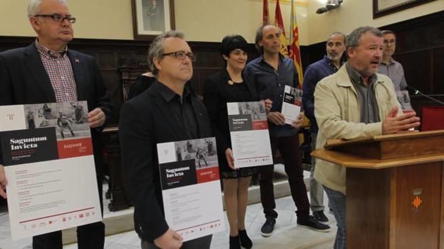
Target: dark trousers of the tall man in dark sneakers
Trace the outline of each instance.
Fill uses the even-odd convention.
[[[304,184],[299,136],[295,134],[288,137],[270,137],[270,142],[273,157],[276,154],[276,149],[279,149],[284,161],[290,191],[297,207],[296,215],[298,219],[307,219],[310,214],[310,204]],[[276,203],[274,202],[273,171],[274,165],[259,168],[260,201],[267,218],[278,217],[278,213],[274,211]]]

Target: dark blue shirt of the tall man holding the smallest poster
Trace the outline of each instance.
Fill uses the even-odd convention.
[[[298,72],[293,60],[280,55],[278,70],[265,62],[263,56],[250,61],[244,69],[247,82],[256,87],[259,99],[270,99],[273,104],[270,112],[281,112],[285,86],[296,88],[299,83]],[[289,124],[275,125],[268,122],[268,129],[272,137],[292,136],[298,130]]]

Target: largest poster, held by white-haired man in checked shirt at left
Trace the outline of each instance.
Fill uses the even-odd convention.
[[[13,240],[100,221],[86,101],[0,106]]]

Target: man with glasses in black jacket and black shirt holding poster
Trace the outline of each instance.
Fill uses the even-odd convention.
[[[157,143],[210,137],[207,111],[185,87],[193,75],[195,56],[183,34],[157,36],[148,52],[153,85],[122,106],[119,137],[125,183],[134,204],[134,226],[142,248],[210,247],[211,236],[182,243],[165,221],[157,159]]]

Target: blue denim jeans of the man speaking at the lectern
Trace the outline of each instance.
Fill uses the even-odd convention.
[[[336,239],[334,249],[346,248],[346,230],[345,230],[345,217],[346,217],[346,196],[338,191],[331,190],[324,186],[325,193],[327,193],[328,200],[333,210],[335,210],[336,224],[338,231],[336,232]]]

